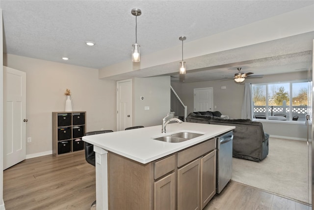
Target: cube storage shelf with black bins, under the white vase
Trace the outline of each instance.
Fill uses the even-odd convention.
[[[86,112],[52,112],[52,154],[84,150]]]

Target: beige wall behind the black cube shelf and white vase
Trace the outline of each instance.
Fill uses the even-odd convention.
[[[86,111],[86,131],[116,130],[116,83],[98,79],[98,69],[10,54],[3,65],[26,72],[26,157],[51,153],[52,112],[64,111],[66,89],[73,111]]]

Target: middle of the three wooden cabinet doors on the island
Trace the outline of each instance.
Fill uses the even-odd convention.
[[[201,158],[178,169],[178,210],[200,210]]]

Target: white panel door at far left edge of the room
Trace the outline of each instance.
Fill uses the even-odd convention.
[[[3,169],[26,158],[26,73],[3,66]]]

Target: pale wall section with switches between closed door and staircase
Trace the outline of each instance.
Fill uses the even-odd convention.
[[[132,84],[133,126],[160,125],[162,118],[170,112],[170,76],[134,78]],[[141,96],[144,100],[140,99]]]

